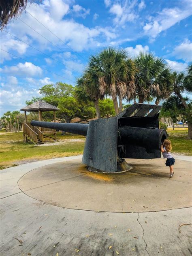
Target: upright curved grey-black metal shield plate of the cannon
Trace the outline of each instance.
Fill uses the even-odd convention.
[[[82,163],[105,172],[117,171],[117,117],[89,124]]]

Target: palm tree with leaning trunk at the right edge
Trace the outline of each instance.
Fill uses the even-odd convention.
[[[183,106],[186,109],[186,117],[188,119],[188,135],[189,139],[192,139],[192,109],[191,105],[188,105],[186,99],[183,98],[182,92],[185,90],[187,92],[192,92],[192,83],[191,83],[191,65],[188,67],[188,75],[185,77],[184,72],[173,72],[172,73],[173,81],[173,92],[179,97]]]

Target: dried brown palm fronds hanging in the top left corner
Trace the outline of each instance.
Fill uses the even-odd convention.
[[[34,2],[30,0],[30,2]],[[26,9],[28,0],[1,0],[0,1],[0,28],[6,27],[11,19],[16,19]]]

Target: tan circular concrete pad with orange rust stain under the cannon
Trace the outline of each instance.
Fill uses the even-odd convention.
[[[65,208],[147,212],[190,207],[191,162],[177,160],[169,178],[165,160],[126,159],[126,173],[87,171],[81,160],[49,164],[19,179],[19,188],[39,201]]]

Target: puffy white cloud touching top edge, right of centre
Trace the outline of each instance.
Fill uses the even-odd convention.
[[[115,18],[113,19],[113,22],[116,25],[124,25],[127,21],[134,21],[136,18],[138,18],[138,15],[136,15],[134,11],[134,7],[137,4],[137,0],[133,0],[131,3],[126,1],[124,6],[120,5],[119,3],[113,4],[109,10],[110,13],[115,15]]]

